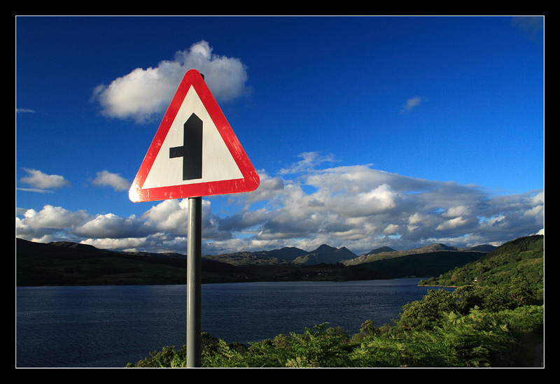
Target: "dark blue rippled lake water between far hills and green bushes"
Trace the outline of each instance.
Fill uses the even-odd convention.
[[[427,287],[395,280],[202,285],[202,331],[227,343],[329,322],[380,326]],[[186,343],[186,285],[18,287],[16,367],[125,367]]]

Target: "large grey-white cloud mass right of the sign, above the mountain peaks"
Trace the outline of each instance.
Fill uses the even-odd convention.
[[[321,243],[357,253],[432,242],[466,247],[499,244],[544,227],[542,191],[493,196],[472,185],[400,176],[369,165],[317,169],[311,163],[297,182],[282,173],[274,204],[223,219],[230,226],[258,229],[244,242],[246,250],[265,244],[309,250]],[[292,169],[303,171],[302,162]]]

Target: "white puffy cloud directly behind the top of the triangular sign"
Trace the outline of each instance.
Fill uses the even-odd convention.
[[[165,112],[183,75],[197,69],[216,99],[230,101],[248,92],[246,66],[240,59],[215,55],[207,41],[175,53],[158,66],[137,68],[109,85],[98,85],[92,99],[111,118],[150,121]]]

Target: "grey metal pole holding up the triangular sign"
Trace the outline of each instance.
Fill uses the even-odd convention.
[[[188,199],[187,367],[200,367],[202,292],[202,197]]]

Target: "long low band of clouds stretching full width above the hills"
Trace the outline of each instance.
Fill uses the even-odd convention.
[[[370,165],[322,168],[319,154],[271,176],[238,200],[237,211],[202,202],[203,253],[322,243],[358,255],[381,246],[410,249],[429,243],[499,245],[544,228],[544,192],[493,195],[472,185],[401,176]],[[303,166],[307,164],[307,167]],[[287,169],[297,173],[286,172]],[[17,236],[73,239],[99,248],[186,253],[188,199],[161,201],[140,217],[90,215],[45,206],[23,210]]]

